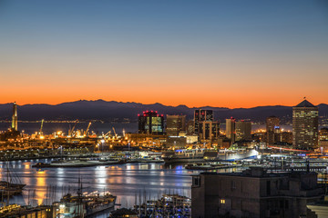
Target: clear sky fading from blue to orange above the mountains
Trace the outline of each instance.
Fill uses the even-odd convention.
[[[0,0],[0,104],[328,104],[325,0]]]

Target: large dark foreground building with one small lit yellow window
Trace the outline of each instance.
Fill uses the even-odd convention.
[[[268,173],[251,167],[242,173],[192,176],[192,217],[306,217],[306,205],[323,197],[317,173]]]

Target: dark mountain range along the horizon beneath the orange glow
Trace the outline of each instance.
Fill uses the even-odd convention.
[[[12,116],[13,104],[0,104],[0,120],[10,120]],[[319,115],[328,115],[328,104],[319,104]],[[278,116],[282,122],[292,121],[291,106],[257,106],[252,108],[210,107],[204,106],[201,109],[210,109],[214,112],[214,119],[223,122],[224,119],[235,117],[237,119],[251,119],[253,122],[264,122],[265,118],[271,115]],[[110,122],[113,120],[123,121],[128,118],[130,121],[137,121],[138,114],[143,111],[153,110],[159,114],[186,114],[192,119],[196,107],[186,105],[167,106],[163,104],[139,104],[122,103],[115,101],[87,101],[80,100],[63,104],[25,104],[18,105],[18,119],[23,121],[35,120],[102,120]]]

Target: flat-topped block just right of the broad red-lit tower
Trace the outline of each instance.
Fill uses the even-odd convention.
[[[180,131],[186,130],[186,115],[167,115],[166,125],[169,136],[178,136]]]

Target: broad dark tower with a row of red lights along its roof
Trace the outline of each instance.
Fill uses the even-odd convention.
[[[145,111],[143,114],[138,114],[138,133],[163,134],[164,115],[159,115],[155,111]]]

